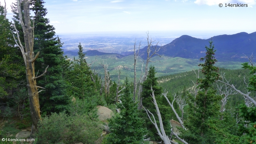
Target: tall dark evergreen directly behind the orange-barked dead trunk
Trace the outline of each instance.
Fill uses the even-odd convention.
[[[70,98],[63,79],[63,64],[66,60],[61,49],[62,43],[58,36],[55,37],[55,28],[49,24],[49,19],[45,18],[47,9],[44,3],[43,0],[33,0],[31,10],[36,15],[34,52],[36,54],[40,51],[35,62],[35,70],[42,74],[49,65],[45,76],[37,80],[37,84],[45,88],[45,91],[39,93],[40,110],[50,114],[67,109]]]

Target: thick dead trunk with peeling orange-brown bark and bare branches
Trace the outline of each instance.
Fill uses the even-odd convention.
[[[39,56],[39,52],[37,52],[36,56],[34,56],[33,46],[34,46],[34,19],[33,19],[33,27],[31,27],[31,20],[30,20],[30,13],[29,13],[29,6],[31,4],[31,0],[23,0],[23,9],[24,9],[24,21],[22,19],[22,12],[21,12],[21,4],[20,0],[17,0],[17,9],[20,18],[20,24],[24,33],[24,40],[25,40],[25,50],[24,47],[20,42],[19,33],[14,25],[16,30],[16,34],[18,37],[19,44],[17,43],[14,35],[14,39],[16,44],[19,46],[23,59],[26,65],[26,79],[27,79],[27,86],[28,86],[28,97],[29,97],[29,106],[30,106],[30,114],[32,117],[32,128],[31,134],[35,134],[37,131],[37,123],[41,120],[40,115],[40,106],[39,106],[39,97],[38,97],[38,88],[42,88],[37,86],[36,79],[43,76],[46,73],[48,66],[45,68],[45,71],[40,76],[35,76],[35,67],[34,62],[36,58]],[[41,90],[42,91],[42,90]],[[39,91],[39,92],[41,92]]]

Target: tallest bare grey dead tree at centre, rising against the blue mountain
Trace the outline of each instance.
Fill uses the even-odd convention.
[[[148,35],[148,32],[147,32],[147,35]],[[159,60],[156,60],[156,61],[151,61],[150,59],[156,54],[158,55],[159,57],[162,57],[163,55],[159,55],[157,54],[157,52],[159,52],[159,50],[161,49],[161,47],[157,50],[157,44],[155,45],[155,51],[153,52],[152,50],[150,50],[150,47],[152,46],[153,48],[153,45],[152,45],[152,42],[155,42],[155,41],[152,41],[151,38],[149,38],[149,35],[147,37],[147,41],[148,41],[148,48],[147,48],[147,60],[146,60],[146,65],[145,65],[145,74],[141,77],[141,80],[140,80],[140,87],[139,87],[139,92],[138,92],[138,101],[139,101],[139,106],[138,106],[138,109],[141,110],[142,108],[142,97],[141,97],[141,92],[142,92],[142,89],[143,89],[143,86],[141,85],[147,78],[147,75],[148,75],[148,63],[149,62],[156,62],[156,61],[159,61]],[[152,53],[150,56],[149,54]]]

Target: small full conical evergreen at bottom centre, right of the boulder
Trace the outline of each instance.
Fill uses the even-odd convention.
[[[125,89],[117,104],[120,108],[120,114],[117,114],[109,120],[109,129],[111,131],[105,139],[105,144],[142,144],[143,136],[147,130],[143,128],[143,120],[138,116],[137,104],[133,102],[131,89],[126,77]]]

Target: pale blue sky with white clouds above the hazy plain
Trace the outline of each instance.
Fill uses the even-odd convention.
[[[13,13],[6,0],[7,18]],[[4,4],[4,0],[0,0]],[[44,0],[57,34],[221,35],[256,31],[256,0]],[[223,6],[220,7],[219,4]],[[247,7],[225,7],[247,4]]]

